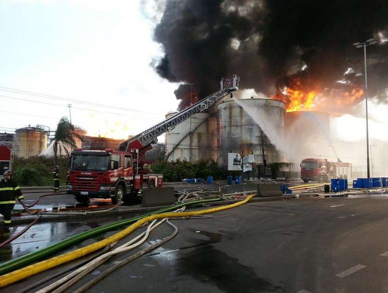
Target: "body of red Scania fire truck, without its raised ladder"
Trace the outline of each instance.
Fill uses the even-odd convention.
[[[152,174],[149,165],[133,159],[133,152],[74,149],[69,159],[66,193],[78,202],[89,198],[130,201],[143,188],[163,186],[163,175]]]

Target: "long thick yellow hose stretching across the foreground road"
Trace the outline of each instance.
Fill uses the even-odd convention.
[[[47,260],[43,260],[31,265],[28,265],[26,267],[14,270],[12,272],[9,272],[7,274],[4,274],[0,276],[0,287],[4,287],[6,285],[9,285],[11,283],[14,283],[16,281],[19,281],[21,279],[24,279],[26,277],[29,277],[31,275],[37,274],[41,271],[45,271],[47,269],[50,269],[52,267],[55,267],[57,265],[60,265],[62,263],[71,261],[73,259],[82,257],[86,254],[89,254],[93,251],[96,251],[98,249],[101,249],[110,243],[113,243],[115,241],[118,241],[119,239],[125,237],[132,231],[134,231],[136,228],[141,226],[143,223],[152,221],[154,219],[160,219],[160,218],[178,218],[178,217],[187,217],[187,216],[192,216],[192,215],[202,215],[202,214],[208,214],[208,213],[213,213],[221,210],[226,210],[230,209],[239,205],[242,205],[246,203],[248,200],[250,200],[254,195],[248,196],[246,199],[241,200],[236,203],[228,204],[225,206],[220,206],[220,207],[214,207],[214,208],[209,208],[209,209],[204,209],[204,210],[197,210],[197,211],[189,211],[189,212],[182,212],[182,213],[177,213],[177,212],[167,212],[167,213],[162,213],[162,214],[155,214],[151,215],[145,218],[142,218],[138,220],[136,223],[133,223],[129,227],[125,228],[121,232],[118,232],[104,240],[98,241],[96,243],[90,244],[88,246],[78,248],[76,250],[64,253],[62,255],[58,255],[55,257],[52,257]]]

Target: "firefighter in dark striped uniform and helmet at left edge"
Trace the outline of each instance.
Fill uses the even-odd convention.
[[[18,183],[11,179],[12,172],[6,170],[4,178],[0,181],[0,214],[4,216],[4,230],[9,231],[11,213],[16,203],[16,197],[23,205],[24,196]]]

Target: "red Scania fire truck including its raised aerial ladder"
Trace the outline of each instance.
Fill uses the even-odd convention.
[[[163,175],[153,174],[143,160],[157,137],[193,115],[206,111],[228,94],[239,89],[240,77],[222,78],[221,88],[180,111],[176,115],[122,142],[117,150],[74,149],[69,159],[66,193],[74,194],[78,202],[90,198],[110,198],[113,204],[129,202],[141,195],[142,189],[163,186]]]

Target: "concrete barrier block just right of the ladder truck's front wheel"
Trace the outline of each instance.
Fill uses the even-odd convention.
[[[171,205],[173,203],[175,203],[173,187],[144,188],[142,191],[142,206]]]

